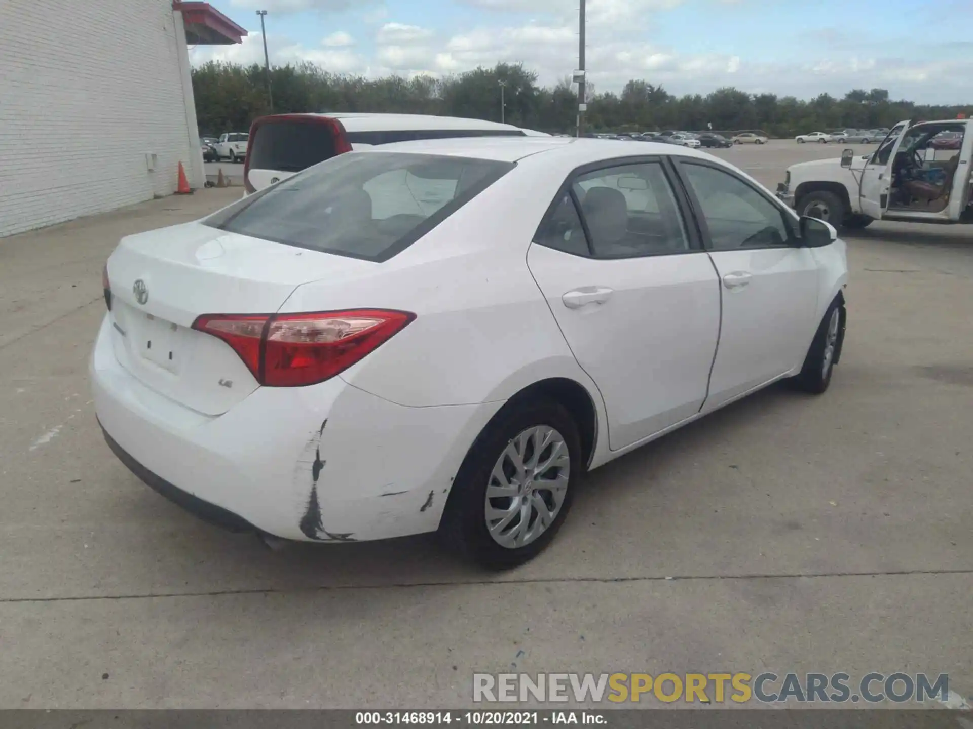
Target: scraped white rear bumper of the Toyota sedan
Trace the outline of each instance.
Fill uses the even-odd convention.
[[[452,477],[502,404],[406,407],[334,377],[259,388],[208,416],[129,374],[110,329],[106,317],[90,360],[109,447],[167,499],[234,531],[305,541],[435,531]]]

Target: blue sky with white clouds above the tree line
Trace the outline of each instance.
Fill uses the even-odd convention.
[[[444,76],[523,62],[543,85],[578,67],[578,0],[209,0],[249,31],[207,60],[308,60],[367,77]],[[973,0],[588,0],[588,79],[619,91],[738,87],[813,98],[887,88],[973,106]]]

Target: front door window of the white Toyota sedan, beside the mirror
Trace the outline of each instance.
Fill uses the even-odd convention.
[[[683,162],[682,169],[699,200],[713,250],[793,244],[783,212],[755,188],[715,167]]]

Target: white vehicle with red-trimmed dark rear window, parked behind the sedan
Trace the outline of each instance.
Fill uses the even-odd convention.
[[[339,112],[261,117],[250,126],[252,141],[243,169],[244,194],[261,191],[307,167],[351,150],[422,139],[537,134],[495,121],[419,114]],[[545,134],[543,138],[549,137]]]

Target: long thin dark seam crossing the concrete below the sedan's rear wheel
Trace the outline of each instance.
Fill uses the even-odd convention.
[[[350,592],[353,590],[388,590],[415,587],[467,587],[490,585],[531,585],[531,584],[570,584],[595,582],[673,582],[673,581],[720,581],[748,579],[824,579],[832,577],[894,577],[936,574],[973,574],[968,570],[897,570],[888,572],[823,572],[823,573],[740,573],[740,574],[674,574],[666,576],[633,577],[524,577],[523,579],[471,579],[471,580],[427,580],[422,582],[387,582],[384,584],[360,585],[315,585],[310,587],[251,587],[229,590],[201,590],[186,592],[146,592],[123,595],[70,595],[51,598],[0,598],[0,605],[15,603],[77,603],[96,600],[153,600],[159,598],[205,598],[227,595],[284,595],[301,592]]]

